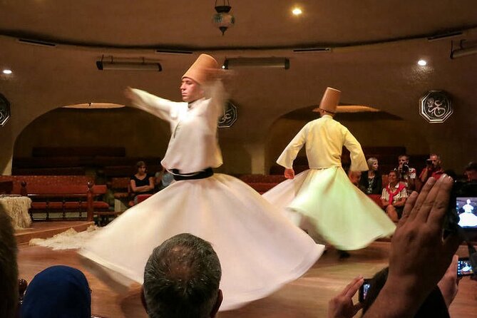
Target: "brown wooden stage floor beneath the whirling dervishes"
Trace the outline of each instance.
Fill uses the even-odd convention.
[[[221,312],[220,318],[317,318],[327,317],[327,303],[353,277],[371,277],[387,265],[389,242],[374,242],[364,250],[352,252],[352,257],[339,260],[330,249],[301,278],[291,282],[265,299],[260,299],[232,312]],[[51,265],[69,265],[82,270],[92,289],[93,314],[101,317],[147,317],[140,303],[140,286],[119,293],[97,279],[81,263],[75,250],[53,251],[46,247],[19,245],[20,276],[31,281],[37,272]],[[466,255],[461,247],[459,255]],[[405,256],[404,256],[405,257]],[[432,266],[432,265],[429,265]],[[224,295],[227,297],[227,295]],[[451,305],[451,317],[477,317],[477,282],[464,277],[456,300]],[[357,317],[360,315],[358,314]]]

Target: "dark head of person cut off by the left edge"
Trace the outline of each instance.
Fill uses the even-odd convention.
[[[14,317],[19,299],[18,253],[11,218],[0,205],[0,313]]]

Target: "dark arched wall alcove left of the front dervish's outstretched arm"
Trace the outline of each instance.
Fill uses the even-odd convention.
[[[30,157],[33,147],[124,147],[130,157],[161,157],[168,123],[136,108],[56,108],[21,131],[14,157]]]

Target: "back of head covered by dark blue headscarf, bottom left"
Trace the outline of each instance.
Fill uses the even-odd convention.
[[[26,288],[22,318],[91,318],[91,290],[83,272],[52,266],[39,272]]]

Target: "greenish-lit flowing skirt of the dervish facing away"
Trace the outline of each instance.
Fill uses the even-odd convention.
[[[396,225],[341,167],[310,169],[263,194],[295,225],[339,250],[359,250]]]

